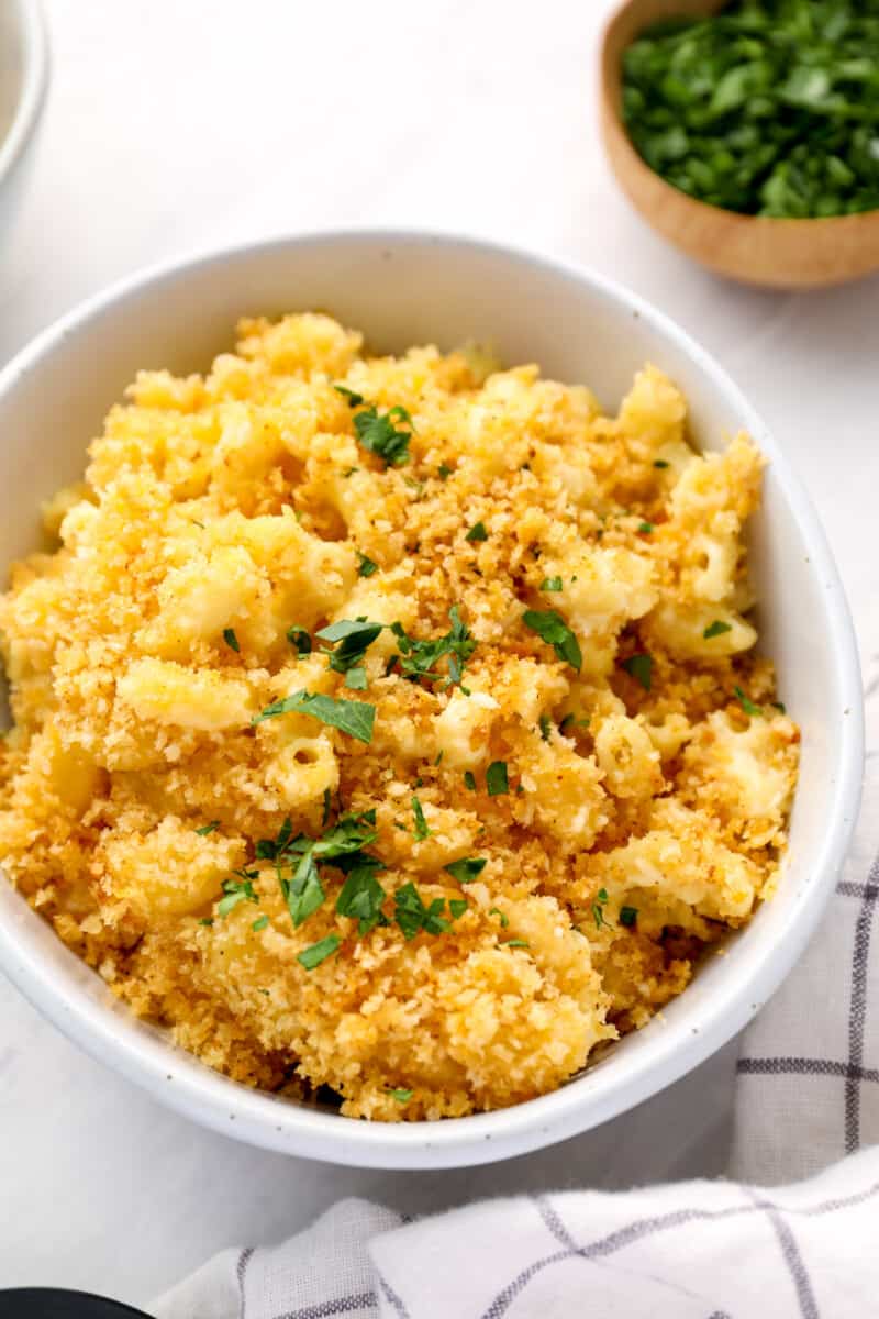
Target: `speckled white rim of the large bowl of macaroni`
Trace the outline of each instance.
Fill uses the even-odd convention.
[[[196,269],[204,272],[253,255],[274,252],[281,257],[291,249],[352,243],[374,244],[377,248],[439,247],[451,259],[456,251],[469,251],[514,266],[532,266],[567,282],[585,285],[617,311],[643,318],[659,336],[685,353],[730,401],[751,434],[759,437],[791,517],[809,545],[810,572],[822,586],[839,711],[847,716],[842,720],[836,774],[830,785],[829,824],[822,845],[808,861],[803,861],[809,881],[791,913],[784,939],[767,943],[759,955],[754,943],[749,960],[742,960],[739,966],[739,977],[725,987],[725,993],[714,993],[702,1004],[698,1030],[688,1024],[685,1033],[679,1028],[654,1031],[619,1078],[613,1076],[606,1064],[598,1063],[560,1089],[489,1113],[440,1121],[364,1122],[252,1091],[211,1071],[161,1038],[158,1031],[152,1038],[142,1024],[120,1021],[117,1013],[84,989],[75,997],[61,996],[54,984],[58,972],[38,951],[18,943],[16,926],[21,918],[7,919],[0,913],[0,968],[25,997],[86,1053],[183,1116],[265,1149],[348,1166],[457,1167],[536,1150],[629,1111],[721,1049],[775,992],[817,927],[857,819],[863,765],[861,670],[851,616],[825,533],[799,477],[756,412],[723,368],[669,317],[615,281],[572,261],[486,239],[416,228],[345,228],[212,248],[150,265],[84,299],[38,334],[0,371],[0,397],[37,369],[66,338],[86,330],[104,313],[121,310],[129,299],[136,299],[148,289],[156,293],[162,285],[186,280]],[[30,909],[24,898],[21,905],[24,918]],[[743,942],[742,947],[747,948],[747,943]],[[67,955],[83,966],[74,954]]]

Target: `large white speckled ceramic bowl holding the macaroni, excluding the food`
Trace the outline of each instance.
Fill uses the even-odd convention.
[[[80,476],[84,448],[138,367],[208,364],[246,313],[319,307],[378,350],[468,338],[507,363],[590,384],[614,408],[644,360],[685,390],[696,442],[747,429],[770,458],[752,536],[762,644],[803,728],[791,848],[778,896],[662,1018],[552,1095],[441,1122],[369,1124],[237,1086],[119,1006],[0,880],[0,966],[71,1039],[181,1113],[269,1149],[373,1167],[521,1154],[647,1099],[739,1030],[803,951],[833,889],[862,769],[857,652],[807,497],[759,417],[681,330],[598,276],[490,244],[416,233],[282,239],[150,270],[92,298],[0,375],[0,565],[32,547],[37,506]]]

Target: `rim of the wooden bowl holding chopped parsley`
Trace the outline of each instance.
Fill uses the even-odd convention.
[[[617,148],[626,152],[627,169],[639,171],[642,177],[648,175],[651,179],[655,179],[656,185],[662,186],[663,195],[669,199],[669,204],[673,199],[675,204],[689,210],[692,215],[705,216],[710,223],[717,223],[720,216],[723,216],[725,223],[756,224],[767,231],[771,230],[774,236],[781,236],[783,230],[791,232],[795,228],[804,230],[805,227],[809,227],[814,232],[818,226],[824,227],[825,231],[833,226],[834,232],[838,235],[839,226],[855,228],[866,223],[879,223],[879,206],[874,206],[868,211],[855,211],[851,215],[751,215],[749,211],[731,211],[726,206],[716,206],[713,202],[704,202],[698,197],[691,197],[689,193],[684,193],[683,189],[669,183],[663,174],[648,165],[633,142],[626,128],[626,121],[622,117],[619,96],[622,70],[618,61],[613,62],[610,59],[608,49],[617,24],[629,9],[634,11],[638,4],[639,0],[621,0],[605,20],[598,41],[598,109],[605,133],[613,133]],[[633,40],[637,40],[637,34]]]

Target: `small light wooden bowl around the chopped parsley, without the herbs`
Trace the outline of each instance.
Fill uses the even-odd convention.
[[[633,146],[622,121],[623,50],[659,18],[722,7],[723,0],[626,0],[610,18],[601,45],[601,129],[617,181],[663,237],[743,284],[817,289],[879,270],[879,210],[826,220],[738,215],[672,187]]]

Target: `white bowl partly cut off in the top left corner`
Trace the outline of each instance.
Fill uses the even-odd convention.
[[[0,185],[37,121],[47,67],[37,0],[0,0]]]

